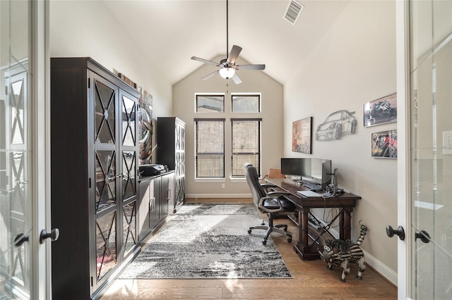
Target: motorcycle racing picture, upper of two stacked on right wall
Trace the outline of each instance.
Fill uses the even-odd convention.
[[[364,127],[397,122],[397,94],[367,102],[362,106]]]

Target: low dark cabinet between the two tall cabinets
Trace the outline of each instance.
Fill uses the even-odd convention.
[[[157,230],[174,207],[174,171],[144,177],[140,182],[138,241]]]

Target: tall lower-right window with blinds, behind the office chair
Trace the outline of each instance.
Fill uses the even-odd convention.
[[[232,177],[245,177],[244,163],[251,163],[261,174],[262,119],[231,119]]]

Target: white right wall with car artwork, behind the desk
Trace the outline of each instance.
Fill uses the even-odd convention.
[[[310,157],[331,159],[338,185],[362,196],[352,213],[352,239],[362,220],[369,227],[362,244],[367,261],[393,282],[397,240],[386,237],[385,228],[397,225],[397,161],[371,158],[371,132],[395,130],[397,124],[364,127],[363,104],[394,92],[394,1],[351,1],[284,87],[285,156],[307,156],[291,150],[292,121],[314,117],[314,135],[330,113],[355,111],[356,134],[331,142],[314,138]]]

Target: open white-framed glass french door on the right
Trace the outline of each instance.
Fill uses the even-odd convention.
[[[397,7],[399,299],[452,299],[452,1]]]

